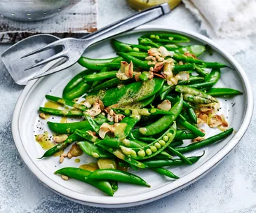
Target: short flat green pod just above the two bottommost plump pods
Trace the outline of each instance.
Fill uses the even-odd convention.
[[[112,158],[113,155],[105,149],[102,149],[100,146],[96,146],[90,142],[78,142],[80,148],[86,153],[88,156],[92,156],[94,158]]]

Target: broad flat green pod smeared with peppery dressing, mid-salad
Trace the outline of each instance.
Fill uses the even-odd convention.
[[[106,91],[101,90],[96,95],[86,97],[86,100],[98,98],[102,100],[105,107],[109,107],[112,104],[126,105],[151,97],[161,89],[162,85],[163,79],[153,78],[149,81],[138,81],[123,85],[121,88],[112,88]]]

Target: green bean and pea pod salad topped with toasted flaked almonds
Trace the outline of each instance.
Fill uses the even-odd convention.
[[[83,121],[48,121],[56,134],[55,145],[40,159],[57,155],[62,163],[82,153],[96,158],[97,163],[63,167],[55,174],[78,179],[110,196],[119,182],[150,187],[128,170],[151,170],[167,181],[179,179],[168,168],[192,165],[204,151],[201,156],[184,153],[234,131],[219,113],[217,97],[242,95],[232,88],[213,87],[227,65],[200,60],[208,47],[186,43],[189,38],[180,34],[152,32],[138,38],[138,44],[112,39],[116,57],[81,57],[79,64],[86,69],[67,83],[62,97],[46,95],[51,104],[40,107],[39,116]],[[54,104],[62,109],[51,107]],[[206,137],[202,125],[220,133]],[[37,135],[38,142],[42,139]],[[187,139],[190,144],[184,146]]]

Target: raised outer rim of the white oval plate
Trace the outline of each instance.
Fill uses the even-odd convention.
[[[84,195],[86,199],[81,199],[79,198],[78,192],[74,192],[70,189],[65,188],[64,186],[58,186],[55,184],[55,181],[50,179],[49,177],[46,176],[46,174],[43,174],[41,170],[36,167],[36,165],[31,161],[29,158],[27,152],[25,151],[25,148],[22,144],[22,139],[19,134],[19,129],[18,129],[18,121],[19,121],[19,115],[20,111],[22,109],[22,104],[24,100],[26,99],[27,95],[29,94],[29,91],[32,90],[38,83],[40,83],[41,79],[30,81],[20,94],[20,97],[18,98],[18,101],[15,105],[15,109],[13,112],[13,119],[12,119],[12,133],[13,133],[13,139],[15,142],[15,146],[18,149],[18,152],[22,158],[22,160],[25,162],[29,170],[41,181],[45,186],[48,186],[51,190],[55,191],[59,195],[64,196],[65,198],[68,198],[69,200],[73,200],[75,202],[79,202],[84,205],[90,205],[94,207],[131,207],[135,205],[142,205],[147,202],[152,202],[154,200],[158,200],[160,198],[163,198],[167,195],[170,195],[171,193],[175,193],[176,191],[179,191],[180,189],[184,188],[185,186],[188,186],[189,184],[192,184],[194,181],[197,179],[200,179],[204,175],[206,175],[210,170],[213,170],[214,167],[216,167],[224,158],[234,149],[234,147],[238,144],[240,141],[241,137],[245,134],[249,124],[250,120],[252,117],[252,112],[253,112],[253,93],[252,93],[252,88],[250,85],[250,81],[248,79],[247,74],[243,70],[240,64],[236,62],[233,56],[231,56],[229,53],[227,53],[223,48],[221,48],[219,45],[217,45],[214,41],[211,39],[208,39],[206,36],[203,36],[201,34],[198,34],[197,32],[191,32],[189,30],[184,30],[184,29],[173,29],[171,27],[164,27],[164,26],[158,26],[158,25],[143,25],[140,27],[137,27],[133,29],[130,32],[125,32],[123,34],[133,34],[134,32],[143,32],[143,31],[149,31],[149,30],[166,30],[166,31],[172,31],[172,32],[177,32],[177,33],[183,33],[183,34],[188,34],[191,37],[194,37],[196,39],[199,39],[201,41],[204,41],[206,43],[209,43],[211,46],[213,46],[215,49],[217,49],[221,55],[224,55],[224,57],[231,62],[231,64],[236,67],[236,71],[238,74],[241,75],[241,80],[243,81],[243,87],[245,88],[245,99],[247,101],[247,105],[245,106],[245,114],[243,121],[241,123],[241,127],[239,130],[237,130],[236,134],[234,137],[232,137],[229,142],[222,148],[220,151],[218,151],[212,158],[207,160],[203,165],[200,167],[196,168],[193,172],[190,172],[187,174],[185,177],[182,178],[179,181],[181,182],[179,186],[177,186],[174,189],[166,189],[163,190],[163,187],[156,188],[153,191],[149,191],[143,194],[151,194],[151,196],[143,196],[143,198],[137,198],[138,195],[130,195],[129,197],[134,197],[132,200],[136,201],[129,201],[125,197],[106,197],[107,202],[102,202],[102,200],[97,199],[97,198],[102,198],[102,195],[100,196],[93,196],[93,195]],[[120,35],[123,35],[120,34]],[[120,36],[118,35],[118,36]],[[199,172],[200,171],[200,172]],[[181,181],[182,180],[182,181]],[[168,184],[169,185],[169,184]],[[165,186],[165,188],[168,188],[168,185]],[[158,193],[156,193],[158,191]],[[87,199],[88,198],[88,199]],[[116,202],[115,200],[119,200]],[[123,200],[123,201],[122,201]]]

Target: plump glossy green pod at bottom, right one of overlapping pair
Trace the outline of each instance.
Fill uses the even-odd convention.
[[[129,172],[122,172],[120,170],[96,170],[95,172],[90,173],[87,179],[120,181],[128,184],[150,187],[146,181],[137,175],[131,174]]]

